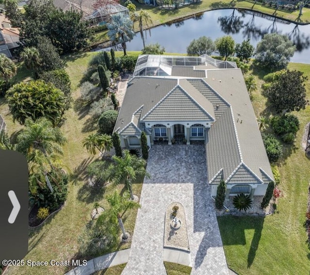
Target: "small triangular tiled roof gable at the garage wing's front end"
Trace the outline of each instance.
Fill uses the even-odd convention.
[[[262,184],[263,181],[258,178],[248,166],[240,162],[233,173],[226,179],[226,184]]]

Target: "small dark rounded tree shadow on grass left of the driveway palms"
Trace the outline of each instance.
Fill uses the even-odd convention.
[[[103,195],[106,192],[104,185],[90,185],[88,182],[85,183],[79,190],[77,198],[79,201],[86,203],[94,203],[102,200]]]

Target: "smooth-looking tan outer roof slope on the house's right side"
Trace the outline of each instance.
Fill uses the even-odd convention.
[[[270,163],[241,70],[208,70],[208,78],[205,81],[232,106],[233,121],[242,161],[255,175],[262,177],[261,168],[273,179]]]

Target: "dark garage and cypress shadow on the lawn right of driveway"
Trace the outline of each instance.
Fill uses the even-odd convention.
[[[246,245],[245,231],[254,229],[248,251],[248,268],[251,267],[262,237],[264,217],[258,216],[221,216],[217,217],[223,245]]]

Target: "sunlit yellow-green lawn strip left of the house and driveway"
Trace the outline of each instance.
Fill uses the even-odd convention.
[[[89,115],[85,110],[80,110],[77,104],[74,104],[79,97],[79,81],[83,72],[86,70],[87,64],[95,53],[77,53],[65,58],[66,71],[68,72],[73,88],[73,108],[65,113],[65,122],[61,129],[68,139],[68,143],[63,146],[63,163],[70,172],[70,183],[68,185],[68,198],[66,206],[50,218],[47,223],[38,229],[30,229],[29,231],[29,252],[24,258],[35,261],[55,260],[71,260],[78,257],[79,244],[78,236],[82,233],[86,224],[91,220],[91,210],[95,202],[98,202],[105,208],[108,203],[104,199],[107,194],[113,193],[115,187],[108,186],[105,190],[94,190],[85,183],[85,167],[92,162],[97,156],[90,155],[82,146],[82,140],[90,132],[85,131]],[[118,53],[121,54],[121,53]],[[20,65],[21,66],[21,65]],[[29,77],[29,71],[24,67],[20,67],[20,75],[18,80]],[[7,123],[8,133],[11,135],[22,127],[13,123],[12,116],[9,113],[8,105],[3,98],[0,99],[0,113]],[[116,187],[121,191],[124,186]],[[140,196],[142,184],[135,183],[133,185],[134,193]],[[124,226],[129,233],[133,233],[136,220],[137,210],[128,210],[124,214]],[[130,247],[130,243],[123,244],[114,249],[124,249]],[[112,251],[109,251],[112,252]],[[90,257],[82,257],[89,259]],[[81,259],[81,258],[80,258]],[[71,269],[70,267],[69,269]],[[66,267],[20,267],[9,268],[8,275],[50,275],[63,274],[69,270]]]

